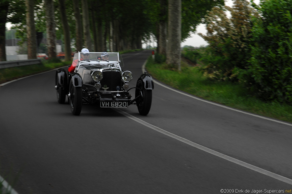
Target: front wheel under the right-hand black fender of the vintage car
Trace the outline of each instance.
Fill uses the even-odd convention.
[[[139,95],[142,96],[136,100],[138,111],[140,115],[147,115],[151,108],[152,103],[152,90],[146,90],[143,86],[143,82],[139,80],[136,84],[136,87],[139,88],[135,90],[135,98]]]

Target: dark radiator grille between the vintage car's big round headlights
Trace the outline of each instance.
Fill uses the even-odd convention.
[[[105,91],[102,88],[108,88],[106,91],[117,91],[117,86],[121,88],[121,73],[119,71],[102,71],[102,75],[100,91]]]

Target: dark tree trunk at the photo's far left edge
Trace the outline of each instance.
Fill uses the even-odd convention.
[[[0,3],[0,61],[6,61],[5,24],[7,22],[8,8],[9,1]]]

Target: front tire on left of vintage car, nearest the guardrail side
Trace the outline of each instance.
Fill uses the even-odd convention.
[[[82,87],[74,87],[71,79],[69,85],[69,104],[73,115],[80,115],[82,109]]]

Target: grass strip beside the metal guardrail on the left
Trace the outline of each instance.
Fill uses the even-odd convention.
[[[43,60],[42,64],[25,65],[25,66],[20,66],[20,67],[10,67],[10,68],[0,69],[0,84],[12,81],[14,79],[18,79],[21,77],[34,75],[36,73],[49,71],[58,67],[71,65],[71,63],[72,61],[54,63],[54,62]]]

